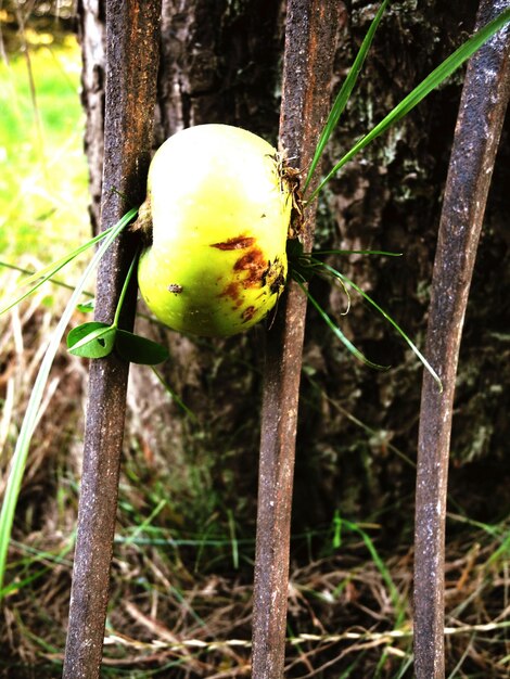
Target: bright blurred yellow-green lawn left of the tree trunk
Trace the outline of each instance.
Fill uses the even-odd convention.
[[[76,38],[25,40],[0,61],[0,254],[37,266],[87,240],[88,177]]]

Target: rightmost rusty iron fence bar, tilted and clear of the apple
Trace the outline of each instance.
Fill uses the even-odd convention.
[[[477,26],[508,7],[482,0]],[[432,281],[426,356],[444,392],[425,373],[421,396],[416,496],[415,669],[445,675],[444,551],[446,488],[455,380],[469,289],[510,90],[510,29],[471,59],[454,138]]]

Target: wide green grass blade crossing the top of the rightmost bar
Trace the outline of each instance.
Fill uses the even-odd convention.
[[[407,115],[422,99],[424,99],[432,90],[438,87],[454,71],[461,66],[484,42],[486,42],[497,30],[502,28],[510,21],[510,8],[505,10],[495,20],[475,33],[469,40],[450,54],[437,68],[420,82],[403,101],[391,111],[370,132],[365,134],[352,149],[344,155],[333,169],[324,177],[317,189],[307,197],[310,203],[320,191],[326,187],[328,181],[336,175],[336,172],[348,163],[359,151],[365,149],[377,137],[385,132],[392,125],[395,125],[405,115]]]

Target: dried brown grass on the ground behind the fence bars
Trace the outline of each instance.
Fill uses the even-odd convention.
[[[3,479],[41,347],[56,312],[58,302],[44,307],[39,296],[0,319]],[[41,408],[10,549],[8,579],[17,586],[2,603],[3,677],[41,679],[61,671],[86,384],[86,363],[62,351]],[[143,450],[136,454],[139,417],[133,412],[126,441],[118,514],[122,539],[115,545],[112,567],[103,676],[248,677],[253,542],[238,545],[239,569],[232,567],[228,534],[222,547],[208,546],[204,526],[194,526],[196,539],[179,543],[178,526],[189,523],[189,517],[176,515],[176,502],[164,505],[161,521],[141,535],[130,533],[133,521],[146,516],[163,497],[161,489],[158,497],[150,497],[157,486],[137,486],[132,477],[132,470],[139,479],[150,477],[155,463]],[[180,434],[184,435],[184,430],[179,430]],[[143,440],[142,433],[139,440]],[[489,531],[467,525],[448,545],[449,677],[508,677],[509,560],[502,550],[495,556],[506,528],[500,524],[497,531]],[[369,559],[359,536],[344,537],[336,550],[329,537],[319,542],[326,550],[323,558],[296,558],[292,563],[285,676],[411,677],[410,547],[388,555],[375,540],[398,593],[403,607],[398,611],[387,579]],[[213,560],[212,566],[199,565]],[[400,614],[405,622],[395,628]]]

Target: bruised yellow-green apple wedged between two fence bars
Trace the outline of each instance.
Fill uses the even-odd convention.
[[[151,163],[152,244],[138,283],[169,328],[228,336],[260,321],[286,277],[292,196],[276,150],[228,125],[174,134]]]

